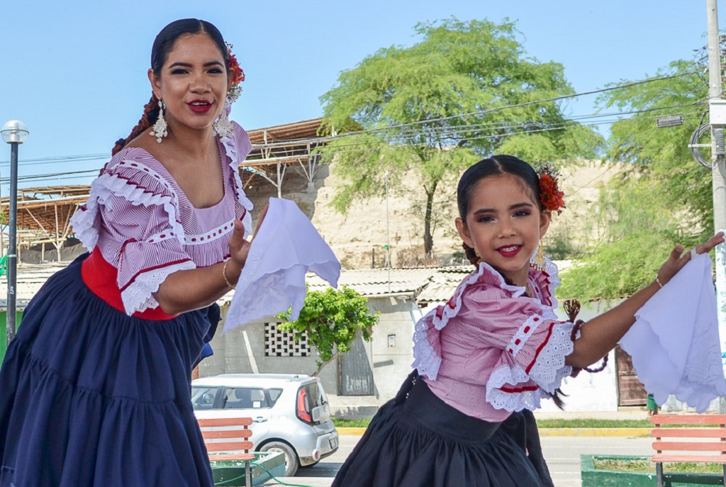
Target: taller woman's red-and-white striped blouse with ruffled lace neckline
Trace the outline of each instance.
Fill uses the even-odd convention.
[[[83,246],[116,269],[126,314],[157,308],[152,293],[169,274],[228,258],[235,218],[250,231],[253,205],[237,172],[252,149],[249,136],[234,123],[218,145],[224,197],[216,205],[195,208],[158,160],[127,147],[91,183],[89,200],[71,218]]]

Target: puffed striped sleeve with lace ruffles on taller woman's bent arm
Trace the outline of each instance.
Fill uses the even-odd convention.
[[[194,269],[184,252],[178,197],[160,172],[133,159],[113,160],[73,216],[76,237],[118,269],[126,314],[155,308],[153,293],[169,274]]]

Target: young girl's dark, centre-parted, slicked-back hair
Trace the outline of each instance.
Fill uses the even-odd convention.
[[[459,205],[459,216],[466,223],[466,215],[469,212],[469,200],[474,192],[474,187],[481,179],[489,176],[502,176],[502,174],[511,174],[517,176],[522,186],[531,192],[532,200],[536,201],[540,210],[544,210],[540,198],[539,176],[531,165],[527,164],[518,157],[513,155],[494,155],[488,159],[482,159],[478,163],[470,166],[459,179],[459,187],[457,188],[457,204]],[[478,266],[479,258],[476,251],[462,244],[466,258],[473,265]]]

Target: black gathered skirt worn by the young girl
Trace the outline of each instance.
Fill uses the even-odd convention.
[[[531,412],[470,417],[416,372],[375,415],[332,487],[550,487]]]

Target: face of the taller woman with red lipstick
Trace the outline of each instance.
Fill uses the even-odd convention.
[[[176,124],[211,126],[224,107],[230,84],[224,57],[206,33],[179,37],[159,75],[149,70],[149,79],[156,97],[166,104],[164,118],[171,131]]]

